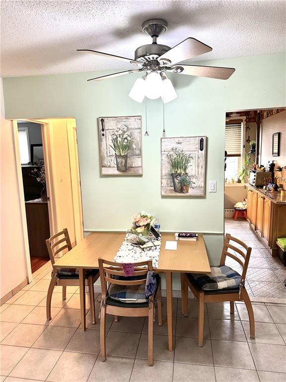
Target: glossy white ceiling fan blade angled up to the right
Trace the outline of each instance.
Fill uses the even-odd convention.
[[[162,56],[158,58],[158,61],[165,62],[167,65],[174,65],[177,62],[189,60],[192,57],[200,56],[200,54],[208,53],[212,50],[213,48],[203,44],[201,41],[188,37],[168,52],[162,54]]]

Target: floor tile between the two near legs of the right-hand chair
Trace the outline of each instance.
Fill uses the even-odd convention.
[[[244,341],[246,337],[240,321],[209,319],[213,340]]]

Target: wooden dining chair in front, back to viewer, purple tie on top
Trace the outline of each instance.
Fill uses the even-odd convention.
[[[148,365],[153,366],[154,304],[157,301],[158,324],[161,326],[162,303],[159,275],[155,275],[155,292],[149,297],[145,295],[147,273],[153,271],[152,260],[135,263],[132,277],[125,277],[122,265],[119,263],[99,258],[98,264],[102,289],[100,312],[100,353],[102,362],[106,361],[106,314],[112,314],[124,317],[148,317]]]

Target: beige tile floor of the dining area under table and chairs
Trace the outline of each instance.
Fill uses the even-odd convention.
[[[235,228],[235,227],[233,227]],[[147,322],[144,318],[108,316],[105,363],[98,356],[99,324],[79,328],[79,294],[60,288],[52,299],[51,321],[46,321],[45,299],[49,264],[35,273],[29,286],[4,305],[0,313],[0,381],[5,382],[285,382],[286,304],[253,305],[256,339],[249,338],[245,305],[207,304],[204,347],[197,345],[198,304],[189,300],[189,317],[174,298],[175,350],[167,350],[167,325],[154,323],[154,366],[147,366]],[[163,298],[165,312],[165,299]],[[96,303],[97,311],[99,309]]]

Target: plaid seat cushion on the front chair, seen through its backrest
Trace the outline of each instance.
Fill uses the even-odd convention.
[[[160,282],[160,276],[156,275],[157,286]],[[131,276],[131,277],[118,277],[119,280],[142,280],[146,276]],[[108,296],[113,300],[118,300],[125,303],[137,303],[141,304],[143,302],[148,302],[148,297],[145,294],[145,284],[142,285],[117,285],[110,284],[108,288]]]

